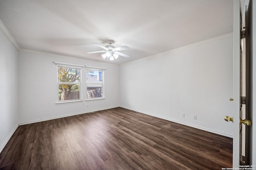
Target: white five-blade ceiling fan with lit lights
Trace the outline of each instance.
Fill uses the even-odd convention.
[[[92,54],[92,53],[105,53],[105,54],[102,54],[102,57],[104,59],[109,59],[109,60],[114,60],[114,59],[117,59],[118,58],[118,55],[121,55],[123,57],[127,57],[129,58],[130,55],[126,55],[124,53],[120,53],[118,51],[121,51],[121,50],[128,50],[129,47],[127,46],[122,46],[122,47],[114,47],[113,45],[111,45],[113,43],[113,41],[109,40],[108,41],[109,45],[106,45],[105,47],[103,45],[100,45],[98,43],[92,43],[92,44],[95,44],[95,45],[98,45],[99,47],[103,48],[105,51],[94,51],[94,52],[89,52],[87,54]]]

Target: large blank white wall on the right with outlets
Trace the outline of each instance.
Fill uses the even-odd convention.
[[[120,66],[121,107],[228,137],[232,96],[232,34]]]

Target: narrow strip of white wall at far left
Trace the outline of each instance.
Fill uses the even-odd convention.
[[[0,31],[0,152],[18,127],[17,50]]]

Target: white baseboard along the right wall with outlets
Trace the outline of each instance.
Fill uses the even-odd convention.
[[[222,132],[219,132],[219,131],[214,131],[214,130],[212,130],[212,129],[207,129],[207,128],[200,127],[200,126],[190,125],[190,124],[188,124],[188,123],[183,123],[183,122],[180,122],[180,121],[176,121],[176,120],[168,119],[168,118],[161,117],[161,116],[158,116],[158,115],[152,115],[152,114],[150,114],[150,113],[146,113],[146,112],[143,112],[143,111],[139,111],[139,110],[131,109],[131,108],[124,107],[124,106],[119,106],[119,107],[122,107],[122,108],[125,108],[125,109],[129,109],[129,110],[132,110],[132,111],[137,111],[137,112],[140,112],[140,113],[143,113],[143,114],[146,114],[146,115],[150,115],[150,116],[158,117],[158,118],[160,118],[160,119],[164,119],[164,120],[172,121],[172,122],[179,123],[179,124],[182,124],[182,125],[186,125],[186,126],[189,126],[189,127],[194,127],[194,128],[196,128],[196,129],[200,129],[200,130],[203,130],[203,131],[207,131],[207,132],[215,133],[215,134],[222,135],[222,136],[225,136],[225,137],[233,138],[233,135],[226,134],[226,133],[222,133]]]

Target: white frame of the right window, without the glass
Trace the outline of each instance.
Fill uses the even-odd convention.
[[[104,100],[105,99],[105,70],[106,68],[100,68],[95,66],[85,66],[86,68],[86,101]],[[102,83],[88,83],[87,82],[87,70],[101,71],[102,72]],[[99,98],[87,98],[87,87],[88,84],[102,84],[102,97]]]

